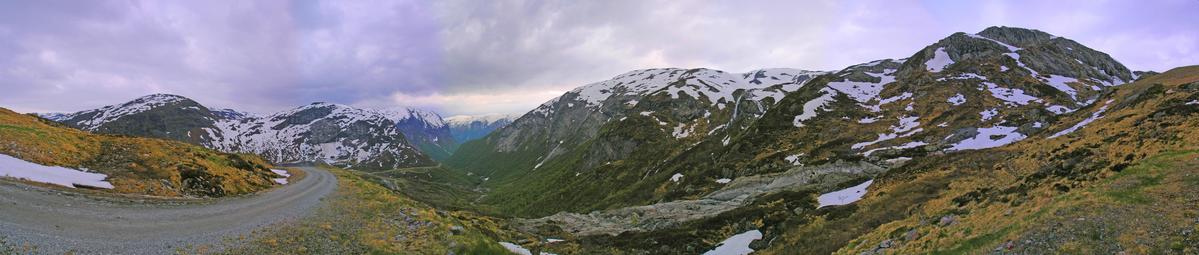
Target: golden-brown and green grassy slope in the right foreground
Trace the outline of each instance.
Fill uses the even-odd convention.
[[[1185,102],[1199,87],[1183,84],[1197,80],[1199,67],[1183,67],[1117,87],[1103,119],[1061,138],[916,159],[880,176],[846,217],[791,227],[766,254],[858,254],[887,241],[886,253],[902,254],[986,253],[1007,241],[1025,253],[1193,253],[1182,230],[1164,226],[1193,229],[1199,212],[1193,196],[1177,195],[1194,189],[1186,150],[1199,147],[1199,105]]]

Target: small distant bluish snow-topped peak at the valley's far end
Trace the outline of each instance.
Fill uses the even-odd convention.
[[[379,110],[396,122],[396,128],[421,152],[444,160],[458,147],[448,122],[441,115],[418,109]]]

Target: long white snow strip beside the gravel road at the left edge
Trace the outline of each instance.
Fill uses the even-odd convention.
[[[32,162],[0,154],[0,176],[23,178],[34,182],[50,183],[68,188],[76,184],[112,189],[113,183],[106,182],[107,175],[85,172],[62,166],[41,165]]]

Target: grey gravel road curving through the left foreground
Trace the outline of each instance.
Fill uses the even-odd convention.
[[[329,171],[299,169],[307,172],[299,182],[210,204],[114,202],[0,184],[0,237],[47,254],[164,254],[201,244],[219,249],[227,238],[309,214],[337,188]]]

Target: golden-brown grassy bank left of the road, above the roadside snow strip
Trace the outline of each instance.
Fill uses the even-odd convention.
[[[44,165],[86,168],[125,194],[224,196],[272,186],[269,164],[185,142],[100,135],[0,109],[0,153]]]

